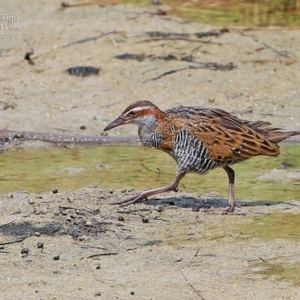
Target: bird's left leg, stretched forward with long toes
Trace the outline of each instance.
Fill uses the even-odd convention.
[[[160,187],[160,188],[156,188],[156,189],[152,189],[152,190],[143,191],[143,192],[141,192],[137,195],[134,195],[128,199],[125,199],[125,200],[119,201],[119,202],[114,202],[112,204],[119,204],[121,206],[126,206],[126,205],[140,202],[143,199],[145,199],[149,196],[152,196],[152,195],[173,191],[177,188],[180,180],[184,177],[184,175],[185,175],[185,173],[177,173],[175,180],[172,181],[169,185],[166,185],[166,186]]]

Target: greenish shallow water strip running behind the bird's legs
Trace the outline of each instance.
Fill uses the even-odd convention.
[[[299,145],[284,145],[279,157],[255,157],[234,166],[236,198],[284,201],[300,199],[300,179],[275,183],[256,177],[282,162],[289,170],[300,168]],[[27,150],[1,153],[1,192],[74,190],[89,185],[99,188],[159,187],[174,179],[176,164],[167,154],[141,146],[106,146],[76,149]],[[300,177],[300,175],[299,175]],[[180,190],[217,192],[227,196],[228,179],[222,169],[205,176],[188,174]]]

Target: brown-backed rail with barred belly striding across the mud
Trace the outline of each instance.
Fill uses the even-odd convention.
[[[147,100],[130,104],[104,131],[124,124],[137,125],[142,144],[169,154],[177,168],[170,184],[114,204],[126,206],[176,190],[187,173],[203,175],[221,167],[229,180],[224,213],[232,213],[240,207],[234,196],[235,172],[231,165],[258,155],[277,156],[279,142],[300,135],[300,131],[283,131],[271,127],[269,122],[243,120],[219,108],[177,106],[163,111]]]

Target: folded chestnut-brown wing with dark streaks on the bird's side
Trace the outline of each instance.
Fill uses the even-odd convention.
[[[187,129],[206,144],[212,160],[238,161],[279,154],[279,146],[267,139],[269,123],[241,120],[220,109],[203,110],[204,114],[189,122]]]

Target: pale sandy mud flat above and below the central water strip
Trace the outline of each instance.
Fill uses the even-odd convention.
[[[1,22],[2,128],[96,135],[128,104],[147,99],[162,109],[220,107],[300,130],[298,30],[220,31],[148,13],[154,6],[59,5],[1,2],[1,13],[17,16]],[[69,75],[74,66],[100,72]],[[109,135],[133,136],[136,128]],[[284,218],[270,239],[252,231],[275,212],[299,216],[299,199],[271,206],[243,199],[248,206],[233,215],[199,211],[225,199],[184,191],[128,208],[108,204],[131,193],[92,186],[36,195],[16,186],[2,195],[1,299],[300,298],[297,231],[280,235]]]

